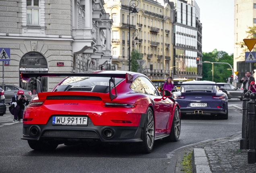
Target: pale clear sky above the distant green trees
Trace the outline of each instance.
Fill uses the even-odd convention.
[[[200,8],[202,51],[234,52],[234,0],[195,0]]]

